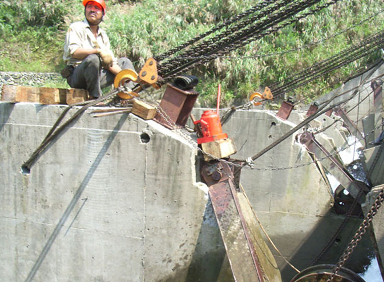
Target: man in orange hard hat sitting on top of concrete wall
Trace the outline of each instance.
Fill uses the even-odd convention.
[[[106,13],[104,0],[83,0],[85,19],[69,26],[65,36],[61,75],[72,88],[86,89],[90,99],[101,96],[101,89],[113,83],[122,69],[133,69],[127,58],[113,55],[107,34],[99,24]],[[128,87],[133,87],[130,82]]]

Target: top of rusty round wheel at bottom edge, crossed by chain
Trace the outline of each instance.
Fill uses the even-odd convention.
[[[335,265],[316,265],[297,274],[291,282],[326,282],[332,276]],[[352,270],[341,268],[332,282],[365,282]]]

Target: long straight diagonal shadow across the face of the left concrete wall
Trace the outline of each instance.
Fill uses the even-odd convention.
[[[45,244],[43,250],[41,251],[39,257],[37,258],[37,261],[33,265],[32,269],[30,270],[27,278],[25,279],[25,282],[30,282],[36,275],[36,272],[40,268],[42,262],[45,259],[45,256],[49,252],[49,249],[53,245],[54,241],[56,240],[57,236],[60,233],[61,228],[64,226],[65,222],[67,221],[70,213],[74,209],[76,203],[79,201],[82,192],[84,191],[85,187],[87,187],[88,182],[92,178],[94,172],[96,171],[97,167],[99,166],[101,160],[104,157],[104,154],[107,152],[109,146],[111,145],[112,141],[115,139],[116,135],[118,134],[119,130],[123,126],[128,114],[124,114],[120,120],[118,121],[117,125],[113,129],[112,133],[108,137],[107,141],[105,141],[103,147],[101,148],[100,152],[98,153],[97,157],[93,161],[91,167],[89,168],[87,174],[85,175],[85,178],[81,182],[80,186],[77,188],[76,193],[73,195],[73,198],[69,205],[67,206],[66,210],[64,211],[63,215],[61,216],[59,222],[56,224],[55,229],[53,230],[52,234],[49,236],[49,239],[47,243]]]

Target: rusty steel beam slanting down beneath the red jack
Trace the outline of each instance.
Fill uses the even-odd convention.
[[[226,162],[206,163],[201,176],[208,185],[213,211],[220,229],[233,278],[236,282],[281,282],[272,253],[255,230],[252,209],[235,186]],[[275,265],[272,266],[272,263]],[[272,267],[271,267],[272,266]]]

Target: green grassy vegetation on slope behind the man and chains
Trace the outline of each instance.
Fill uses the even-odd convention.
[[[103,27],[116,55],[131,58],[139,70],[147,58],[186,42],[257,2],[195,0],[192,4],[190,0],[109,0]],[[197,91],[201,105],[215,104],[218,83],[222,87],[222,106],[242,104],[254,91],[262,92],[265,86],[358,43],[384,28],[384,12],[359,24],[381,9],[382,1],[339,1],[194,69],[192,73],[200,79]],[[81,0],[2,0],[0,70],[58,72],[63,67],[66,28],[82,18]],[[322,43],[276,54],[327,38],[353,25],[356,26]],[[379,53],[351,63],[289,95],[309,102],[378,56]],[[55,86],[54,83],[49,86]]]

